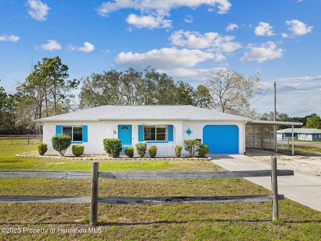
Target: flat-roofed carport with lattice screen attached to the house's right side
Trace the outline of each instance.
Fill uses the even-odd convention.
[[[259,148],[277,151],[277,126],[291,126],[292,140],[294,139],[294,126],[302,126],[300,122],[277,122],[251,120],[245,125],[245,148]],[[292,155],[294,155],[294,143],[292,142]]]

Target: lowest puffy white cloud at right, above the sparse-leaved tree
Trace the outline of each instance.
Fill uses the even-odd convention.
[[[246,52],[244,56],[240,59],[241,62],[256,61],[257,63],[262,63],[269,59],[282,58],[283,49],[276,49],[274,42],[266,42],[260,47],[256,47],[253,44],[249,44],[250,52]]]

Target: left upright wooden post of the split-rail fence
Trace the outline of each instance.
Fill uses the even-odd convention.
[[[90,201],[90,225],[97,224],[98,215],[98,168],[99,162],[91,163],[91,201]]]

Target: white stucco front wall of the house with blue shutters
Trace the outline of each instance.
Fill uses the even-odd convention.
[[[85,154],[105,154],[103,150],[103,139],[118,138],[118,125],[131,125],[132,127],[132,145],[138,143],[138,126],[139,125],[173,125],[175,145],[183,146],[184,140],[201,139],[203,142],[203,128],[207,125],[236,125],[239,129],[239,154],[245,152],[245,122],[244,121],[155,121],[155,120],[126,120],[126,121],[100,121],[100,122],[45,122],[43,142],[48,145],[47,154],[58,154],[52,148],[51,138],[56,135],[56,126],[88,126],[88,142],[79,143],[85,146]],[[188,135],[186,131],[190,129],[192,133]],[[114,133],[116,132],[116,133]],[[77,145],[73,143],[72,145]],[[71,146],[72,146],[71,145]],[[71,154],[71,146],[67,154]],[[187,154],[184,150],[182,154]]]

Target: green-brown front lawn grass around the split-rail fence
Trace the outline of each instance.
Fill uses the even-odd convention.
[[[12,147],[15,146],[15,147]],[[35,145],[0,141],[1,170],[89,171],[90,161],[22,158]],[[103,171],[216,171],[208,161],[100,161]],[[242,178],[99,179],[100,196],[254,195],[269,191]],[[89,179],[3,178],[0,195],[89,196]],[[271,221],[271,203],[99,204],[99,225],[89,225],[89,203],[0,203],[0,227],[45,228],[48,233],[2,233],[0,240],[320,240],[321,212],[285,199],[280,220]],[[58,232],[58,228],[71,232]],[[49,230],[55,230],[50,233]],[[63,229],[59,229],[63,230]],[[79,232],[82,230],[82,232]],[[84,232],[85,230],[86,232]],[[95,231],[93,233],[93,231]]]

